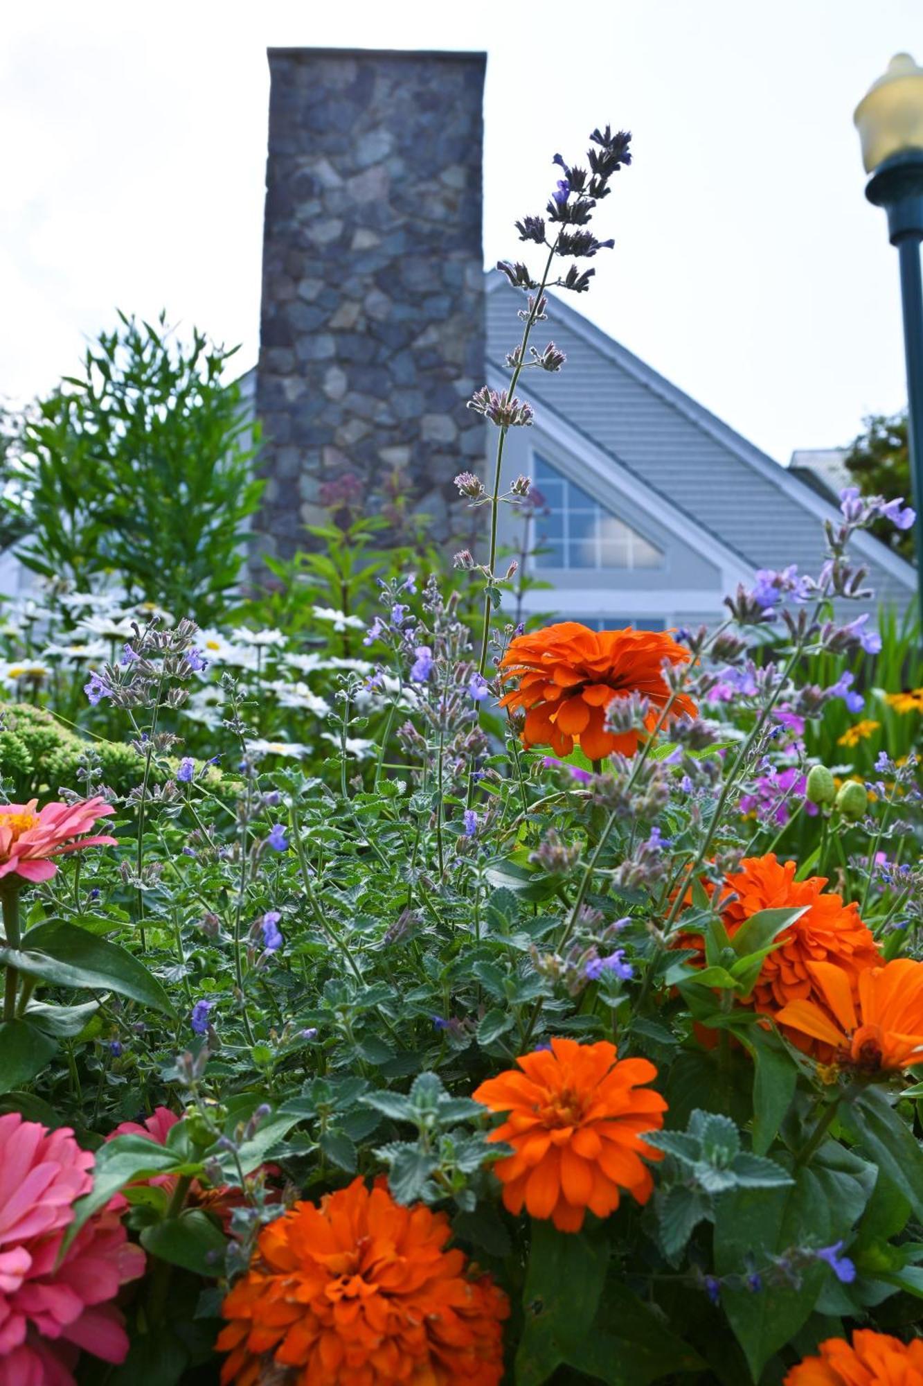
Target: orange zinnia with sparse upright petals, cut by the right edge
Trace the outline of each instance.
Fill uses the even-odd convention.
[[[823,1006],[791,1001],[776,1016],[779,1024],[829,1045],[837,1063],[862,1073],[923,1063],[923,962],[895,958],[883,967],[866,967],[859,973],[858,1005],[843,967],[808,966]]]

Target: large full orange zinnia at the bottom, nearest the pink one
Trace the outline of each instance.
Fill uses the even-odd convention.
[[[450,1235],[443,1213],[402,1207],[384,1181],[295,1203],[225,1299],[222,1382],[288,1368],[292,1386],[499,1386],[509,1303],[488,1275],[466,1277]]]

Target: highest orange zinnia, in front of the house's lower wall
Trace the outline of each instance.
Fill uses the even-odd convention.
[[[577,742],[592,761],[621,751],[633,755],[638,732],[607,732],[606,708],[617,697],[639,693],[651,704],[647,730],[669,700],[661,663],[686,664],[683,650],[662,631],[590,631],[578,621],[546,625],[532,635],[517,635],[500,660],[503,679],[518,686],[500,699],[500,707],[525,711],[524,746],[550,746],[570,755]],[[696,704],[680,693],[671,717],[696,715]]]

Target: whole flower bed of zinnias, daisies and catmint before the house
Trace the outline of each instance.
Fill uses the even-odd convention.
[[[33,542],[0,1386],[923,1383],[923,672],[850,552],[912,511],[851,488],[711,628],[510,618],[517,389],[629,164],[595,130],[517,223],[446,571],[348,484],[236,604]]]

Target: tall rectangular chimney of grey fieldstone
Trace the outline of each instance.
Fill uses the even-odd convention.
[[[324,484],[367,509],[403,473],[432,536],[484,456],[485,54],[270,49],[256,529],[308,546]]]

